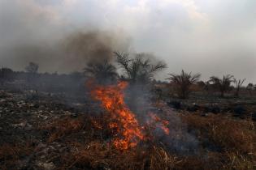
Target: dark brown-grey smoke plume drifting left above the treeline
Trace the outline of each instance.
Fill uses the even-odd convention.
[[[28,41],[0,51],[11,68],[23,70],[28,62],[37,62],[41,71],[70,72],[83,69],[87,62],[111,61],[115,50],[126,49],[128,41],[121,40],[115,32],[76,31],[59,40]]]

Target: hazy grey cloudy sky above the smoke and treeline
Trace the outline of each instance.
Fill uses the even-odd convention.
[[[167,62],[159,79],[184,69],[256,83],[255,9],[254,0],[0,0],[0,63],[81,70],[76,57],[54,60],[55,45],[71,32],[97,30],[114,37],[111,49]]]

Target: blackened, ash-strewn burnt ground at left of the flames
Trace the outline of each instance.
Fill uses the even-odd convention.
[[[49,142],[47,126],[65,117],[78,117],[88,107],[76,109],[47,93],[0,92],[0,169],[53,169],[52,160],[66,149]]]

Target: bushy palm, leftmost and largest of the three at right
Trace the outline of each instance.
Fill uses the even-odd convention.
[[[191,92],[190,87],[193,83],[197,83],[201,76],[201,74],[192,74],[191,72],[188,74],[184,72],[184,70],[181,71],[181,74],[169,75],[170,78],[167,79],[169,79],[171,84],[176,87],[177,94],[181,99],[185,99],[189,96],[189,93]]]

